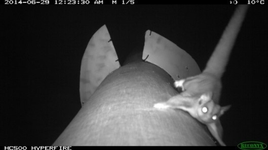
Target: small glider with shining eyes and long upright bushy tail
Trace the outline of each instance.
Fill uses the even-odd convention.
[[[172,96],[167,102],[157,103],[154,106],[160,109],[172,108],[188,112],[192,117],[207,125],[220,145],[225,144],[222,141],[222,126],[219,117],[231,107],[218,105],[221,77],[248,7],[247,5],[237,7],[207,62],[205,70],[197,76],[175,81],[174,86],[182,88],[182,92]]]

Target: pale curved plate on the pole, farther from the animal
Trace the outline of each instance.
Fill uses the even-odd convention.
[[[103,79],[120,67],[109,32],[103,25],[90,39],[80,71],[80,100],[87,102]]]

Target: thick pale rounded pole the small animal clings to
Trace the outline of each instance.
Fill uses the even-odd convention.
[[[178,92],[154,64],[136,61],[109,74],[53,145],[215,145],[205,126],[154,104]]]

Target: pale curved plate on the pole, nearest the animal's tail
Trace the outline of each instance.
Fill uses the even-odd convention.
[[[201,73],[198,64],[189,54],[170,40],[150,30],[145,34],[142,59],[164,69],[174,80]]]

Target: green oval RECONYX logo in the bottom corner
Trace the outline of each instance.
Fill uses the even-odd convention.
[[[242,142],[237,145],[238,148],[243,149],[243,150],[260,150],[264,149],[267,147],[266,144],[262,142],[257,142],[257,141],[247,141],[247,142]]]

